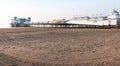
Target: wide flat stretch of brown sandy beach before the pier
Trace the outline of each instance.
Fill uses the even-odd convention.
[[[120,66],[120,29],[1,29],[6,65]]]

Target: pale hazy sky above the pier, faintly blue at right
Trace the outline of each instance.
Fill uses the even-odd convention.
[[[14,16],[31,17],[36,22],[108,15],[114,8],[120,12],[120,0],[0,0],[0,27],[9,27]]]

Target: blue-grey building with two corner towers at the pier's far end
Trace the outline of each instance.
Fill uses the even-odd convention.
[[[31,22],[31,17],[28,18],[18,18],[14,17],[12,20],[12,27],[28,27],[29,25],[25,25],[25,23]]]

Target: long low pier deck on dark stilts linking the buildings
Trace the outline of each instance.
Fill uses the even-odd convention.
[[[118,28],[118,26],[108,25],[85,25],[85,24],[63,24],[63,23],[28,23],[24,27],[40,27],[40,28]]]

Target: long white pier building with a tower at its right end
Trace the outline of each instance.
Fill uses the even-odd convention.
[[[120,26],[120,14],[115,9],[110,16],[100,16],[90,18],[74,17],[67,24],[96,25],[96,26]]]

